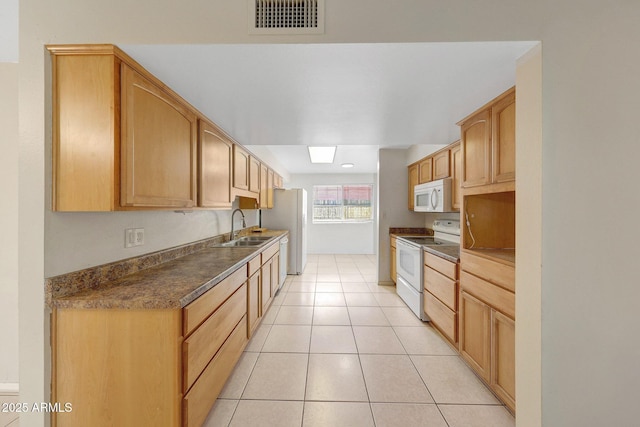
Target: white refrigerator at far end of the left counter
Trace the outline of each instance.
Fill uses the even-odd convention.
[[[307,191],[275,189],[273,208],[261,211],[261,227],[289,230],[287,274],[302,274],[307,264]]]

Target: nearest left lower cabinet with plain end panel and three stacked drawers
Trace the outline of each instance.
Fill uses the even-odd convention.
[[[53,425],[202,425],[248,342],[249,269],[183,309],[55,309],[52,401],[73,411]]]

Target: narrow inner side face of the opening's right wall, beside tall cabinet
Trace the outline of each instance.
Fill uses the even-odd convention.
[[[542,346],[542,47],[516,68],[516,396],[519,425],[539,425]],[[526,118],[526,120],[522,120]],[[526,197],[521,197],[526,195]],[[524,249],[524,250],[522,250]],[[521,402],[526,404],[521,405]]]

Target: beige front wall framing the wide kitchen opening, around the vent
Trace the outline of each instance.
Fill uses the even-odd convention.
[[[640,59],[633,49],[640,45],[639,8],[627,0],[351,0],[329,2],[325,35],[254,37],[246,33],[244,1],[21,1],[21,399],[45,400],[49,386],[42,280],[50,123],[43,44],[542,40],[542,193],[535,179],[518,193],[541,197],[541,281],[518,283],[519,291],[531,287],[534,298],[540,292],[541,329],[540,313],[532,319],[519,313],[517,330],[518,348],[523,338],[541,336],[541,344],[534,339],[526,345],[540,355],[540,367],[519,370],[517,381],[519,390],[530,386],[532,394],[541,393],[542,403],[519,398],[519,413],[531,418],[518,417],[517,423],[633,425],[640,338],[625,326],[640,320],[640,267],[632,258],[638,253],[633,227],[640,200],[637,191],[629,191],[640,180],[640,144],[634,139],[640,131]],[[594,206],[593,194],[602,194],[604,208]],[[519,212],[518,221],[535,224],[538,209],[531,218]],[[596,245],[594,225],[602,224],[604,209],[623,232]],[[111,222],[107,216],[95,225]],[[518,259],[529,252],[539,256],[536,251],[535,245],[519,246]],[[44,418],[25,414],[20,424],[42,425]]]

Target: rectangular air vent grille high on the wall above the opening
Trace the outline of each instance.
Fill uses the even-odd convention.
[[[324,0],[248,0],[250,34],[322,34]]]

